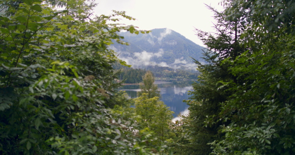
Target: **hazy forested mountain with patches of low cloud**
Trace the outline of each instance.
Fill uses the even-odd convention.
[[[115,43],[110,48],[134,68],[158,65],[195,70],[196,64],[191,57],[202,61],[200,57],[205,49],[168,28],[152,29],[148,34],[120,32],[120,35],[130,45]]]

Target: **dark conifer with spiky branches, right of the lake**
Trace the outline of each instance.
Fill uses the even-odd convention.
[[[190,138],[182,138],[185,144],[182,150],[190,155],[209,155],[212,148],[208,143],[222,139],[220,126],[227,125],[230,121],[220,121],[218,115],[221,111],[220,103],[226,102],[234,93],[233,90],[227,89],[228,86],[223,86],[223,82],[242,83],[236,79],[236,76],[230,74],[230,63],[225,63],[223,60],[234,60],[246,49],[239,45],[243,41],[240,38],[243,20],[241,18],[227,20],[225,12],[218,12],[210,6],[208,8],[215,14],[214,18],[218,22],[215,25],[217,32],[212,34],[197,30],[197,35],[207,46],[203,57],[207,63],[201,64],[195,60],[198,71],[202,74],[198,82],[193,84],[194,90],[191,92],[193,96],[187,101],[190,105],[188,108],[190,125],[185,127],[187,129],[185,131]]]

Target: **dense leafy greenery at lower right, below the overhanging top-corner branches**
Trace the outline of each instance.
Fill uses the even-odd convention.
[[[267,55],[251,54],[250,57],[246,53],[236,59],[232,74],[239,78],[247,75],[247,83],[231,88],[236,89],[236,93],[223,104],[221,114],[232,123],[222,129],[225,140],[212,143],[216,147],[214,152],[294,154],[295,92],[290,84],[295,82],[292,78],[295,53],[269,51]],[[221,150],[221,147],[227,149]]]

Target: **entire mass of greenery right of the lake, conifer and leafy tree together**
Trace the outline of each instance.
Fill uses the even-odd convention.
[[[295,2],[223,4],[217,34],[198,34],[209,65],[199,63],[189,144],[209,143],[213,155],[293,155]]]

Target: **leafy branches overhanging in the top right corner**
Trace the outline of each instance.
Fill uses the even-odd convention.
[[[295,34],[292,28],[295,24],[293,0],[224,0],[223,3],[227,6],[225,10],[227,20],[235,20],[240,17],[243,20],[246,33],[243,33],[242,37],[250,34],[255,38],[247,40],[249,45],[276,40],[274,38],[268,39],[268,37],[280,37],[286,33]],[[255,43],[255,41],[259,42]]]

